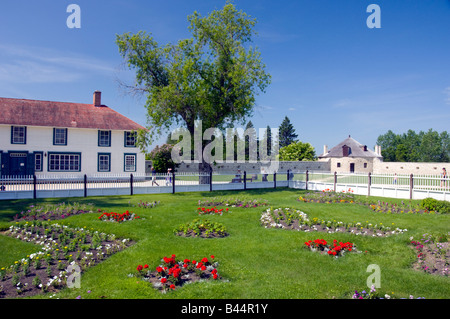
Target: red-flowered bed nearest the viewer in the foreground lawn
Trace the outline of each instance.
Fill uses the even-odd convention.
[[[148,281],[161,292],[175,290],[185,284],[200,280],[218,280],[217,261],[214,256],[204,257],[201,261],[177,260],[175,255],[164,257],[161,264],[151,271],[148,265],[138,265],[136,277]]]

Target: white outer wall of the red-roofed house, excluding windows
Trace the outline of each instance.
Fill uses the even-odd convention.
[[[111,174],[128,174],[124,172],[124,154],[135,153],[136,174],[145,173],[145,155],[138,147],[124,146],[124,132],[111,131],[111,147],[98,146],[98,130],[68,128],[67,145],[53,145],[52,127],[27,126],[26,144],[11,144],[11,126],[0,125],[0,151],[32,152],[76,152],[81,153],[81,172],[48,172],[48,156],[43,158],[43,171],[39,174],[101,174],[98,172],[98,153],[111,154]]]

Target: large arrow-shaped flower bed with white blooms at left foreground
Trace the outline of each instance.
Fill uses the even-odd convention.
[[[83,271],[132,244],[114,234],[41,221],[17,223],[3,234],[42,250],[0,269],[0,298],[56,292],[67,286],[70,265]]]

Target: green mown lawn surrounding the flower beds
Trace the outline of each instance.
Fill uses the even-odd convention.
[[[117,197],[89,197],[71,199],[47,199],[40,201],[15,200],[0,202],[0,229],[11,225],[16,213],[29,204],[41,202],[86,202],[96,208],[124,212],[130,210],[143,219],[112,224],[101,222],[97,214],[85,214],[67,218],[64,224],[90,227],[137,243],[121,251],[101,264],[83,273],[80,289],[65,289],[60,298],[211,298],[211,299],[328,299],[350,298],[355,290],[367,289],[366,272],[371,264],[381,269],[382,292],[393,296],[449,298],[450,279],[413,271],[415,251],[408,245],[409,238],[421,237],[424,233],[448,232],[449,215],[383,214],[354,204],[312,204],[298,202],[296,198],[304,191],[292,189],[267,189],[177,193],[157,195],[135,195]],[[304,233],[282,229],[265,229],[259,218],[264,208],[232,208],[232,213],[223,216],[202,218],[220,222],[227,227],[225,238],[183,238],[173,234],[173,229],[190,222],[197,215],[197,202],[205,197],[230,196],[265,199],[274,208],[295,207],[310,217],[335,219],[350,222],[369,221],[385,225],[395,223],[408,231],[387,238],[369,238],[351,234]],[[139,200],[158,200],[161,204],[152,209],[131,207]],[[384,199],[389,201],[389,199]],[[131,204],[130,204],[131,203]],[[349,254],[333,259],[304,248],[304,242],[323,238],[329,242],[354,242],[361,254]],[[39,250],[39,247],[0,236],[0,267],[7,267],[15,260]],[[179,258],[202,258],[215,255],[219,262],[219,273],[226,281],[197,282],[186,285],[169,294],[161,294],[149,283],[139,281],[128,274],[135,272],[138,264],[151,268],[159,265],[164,256]],[[88,293],[87,291],[91,291]],[[34,298],[48,298],[37,296]]]

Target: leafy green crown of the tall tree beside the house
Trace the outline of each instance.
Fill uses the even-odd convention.
[[[231,3],[206,17],[188,16],[192,38],[158,44],[151,34],[117,35],[119,52],[136,72],[135,92],[146,95],[148,131],[143,145],[183,127],[194,136],[197,120],[224,130],[244,124],[270,75],[251,45],[256,20]],[[209,165],[203,161],[202,170]]]

